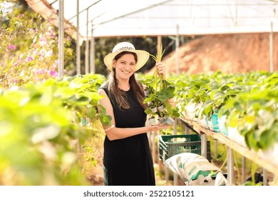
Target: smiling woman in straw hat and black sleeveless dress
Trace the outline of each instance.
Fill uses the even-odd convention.
[[[153,158],[146,132],[170,126],[145,126],[143,86],[136,81],[135,71],[149,59],[147,51],[135,50],[133,44],[121,42],[105,56],[110,70],[108,80],[98,93],[103,95],[100,104],[112,116],[105,129],[103,169],[105,185],[155,185]],[[159,74],[165,76],[165,67],[155,64]]]

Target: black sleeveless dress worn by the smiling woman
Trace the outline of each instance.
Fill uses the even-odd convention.
[[[108,89],[104,89],[108,94]],[[146,114],[132,89],[125,91],[130,109],[119,109],[114,96],[110,98],[118,128],[145,126]],[[105,136],[103,154],[104,184],[108,186],[154,186],[153,158],[147,134],[110,141]]]

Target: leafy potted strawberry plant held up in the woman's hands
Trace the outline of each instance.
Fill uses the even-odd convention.
[[[164,52],[165,50],[163,50],[163,46],[160,44],[158,54],[150,56],[158,63],[161,61]],[[163,74],[158,74],[158,69],[155,69],[150,79],[145,79],[142,83],[146,86],[144,103],[148,105],[145,113],[150,116],[152,121],[155,118],[157,123],[173,124],[173,118],[180,116],[177,109],[173,108],[169,103],[169,100],[175,96],[173,84],[166,81]]]

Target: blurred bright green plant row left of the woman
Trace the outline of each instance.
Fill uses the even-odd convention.
[[[88,184],[76,153],[110,123],[97,111],[103,80],[88,74],[0,91],[0,185]]]

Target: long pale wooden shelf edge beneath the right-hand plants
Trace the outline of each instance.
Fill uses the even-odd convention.
[[[192,129],[194,129],[198,134],[207,134],[207,136],[211,136],[212,138],[217,139],[222,144],[229,146],[230,148],[234,149],[238,153],[242,154],[242,156],[246,157],[251,161],[254,161],[259,166],[262,166],[262,168],[278,176],[278,170],[277,170],[278,164],[273,164],[271,161],[267,160],[262,155],[259,155],[258,152],[248,149],[247,146],[242,146],[241,144],[237,144],[237,142],[232,141],[231,139],[229,139],[227,136],[223,134],[218,134],[215,133],[214,131],[210,131],[209,129],[200,126],[195,121],[191,121],[185,118],[180,118],[180,120],[184,121],[189,126],[191,126]]]

